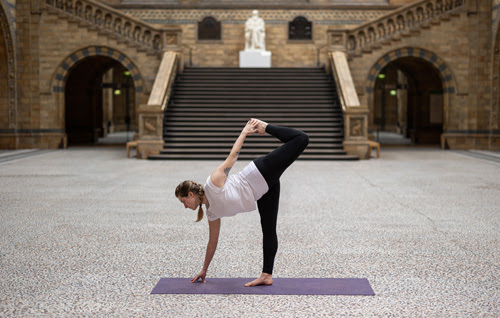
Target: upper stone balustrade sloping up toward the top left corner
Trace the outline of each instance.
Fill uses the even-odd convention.
[[[180,44],[180,29],[155,28],[92,0],[45,0],[48,7],[157,53]]]

